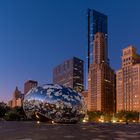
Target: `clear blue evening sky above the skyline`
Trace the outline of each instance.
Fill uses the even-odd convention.
[[[113,69],[122,48],[140,52],[139,0],[0,0],[0,101],[28,79],[51,83],[52,69],[72,56],[86,60],[87,8],[108,16]]]

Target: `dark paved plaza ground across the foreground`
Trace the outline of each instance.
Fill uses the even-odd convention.
[[[0,140],[140,140],[140,124],[0,121]]]

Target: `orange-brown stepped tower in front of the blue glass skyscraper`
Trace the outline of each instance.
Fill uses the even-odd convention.
[[[107,39],[98,32],[93,40],[93,63],[88,78],[88,110],[115,112],[115,74],[108,63]]]

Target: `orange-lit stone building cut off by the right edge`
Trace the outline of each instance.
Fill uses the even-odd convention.
[[[140,111],[140,55],[133,46],[123,49],[116,76],[117,112]]]

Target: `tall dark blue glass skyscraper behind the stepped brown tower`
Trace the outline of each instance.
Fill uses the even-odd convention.
[[[89,66],[93,62],[93,47],[94,47],[94,35],[96,33],[104,33],[107,43],[107,16],[99,13],[95,10],[88,9],[88,72]],[[106,45],[107,47],[107,45]],[[108,49],[105,49],[106,56]],[[108,58],[106,58],[108,61]]]

